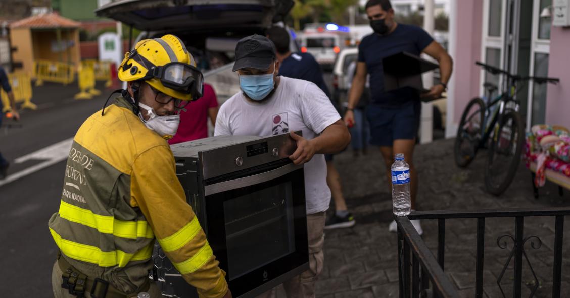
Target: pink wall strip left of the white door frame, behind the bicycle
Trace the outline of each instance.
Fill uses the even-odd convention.
[[[479,95],[481,69],[475,60],[481,60],[481,35],[483,28],[483,1],[457,0],[456,51],[453,58],[455,88],[448,100],[453,100],[453,121],[457,125],[471,98]],[[451,111],[450,111],[451,112]],[[450,113],[447,113],[450,115]],[[449,117],[449,116],[448,116]]]

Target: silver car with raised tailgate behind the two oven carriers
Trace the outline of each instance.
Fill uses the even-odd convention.
[[[143,31],[132,47],[140,39],[178,36],[222,104],[240,90],[239,78],[231,71],[235,44],[245,36],[264,34],[293,5],[293,0],[111,0],[95,13]]]

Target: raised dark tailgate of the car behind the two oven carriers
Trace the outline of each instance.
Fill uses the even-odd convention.
[[[293,0],[114,0],[95,13],[144,31],[214,31],[267,28],[293,5]]]

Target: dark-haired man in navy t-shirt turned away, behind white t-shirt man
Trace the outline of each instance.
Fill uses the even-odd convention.
[[[277,59],[280,61],[279,75],[285,77],[299,78],[314,82],[319,86],[328,98],[331,98],[327,84],[324,82],[323,71],[319,63],[310,53],[291,53],[289,49],[289,34],[283,27],[274,26],[267,30],[267,38],[275,44]],[[339,111],[337,103],[332,101],[332,105]],[[325,229],[337,229],[340,227],[351,227],[355,225],[354,217],[347,210],[343,191],[340,187],[340,175],[332,163],[332,154],[325,154],[327,161],[327,184],[331,189],[331,195],[335,201],[335,214],[325,222]]]

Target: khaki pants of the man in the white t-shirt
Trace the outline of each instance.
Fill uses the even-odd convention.
[[[315,283],[323,272],[324,264],[324,222],[325,212],[319,212],[307,216],[307,234],[309,240],[309,270],[287,280],[283,288],[290,298],[314,298]],[[259,295],[258,298],[275,298],[275,288]]]

